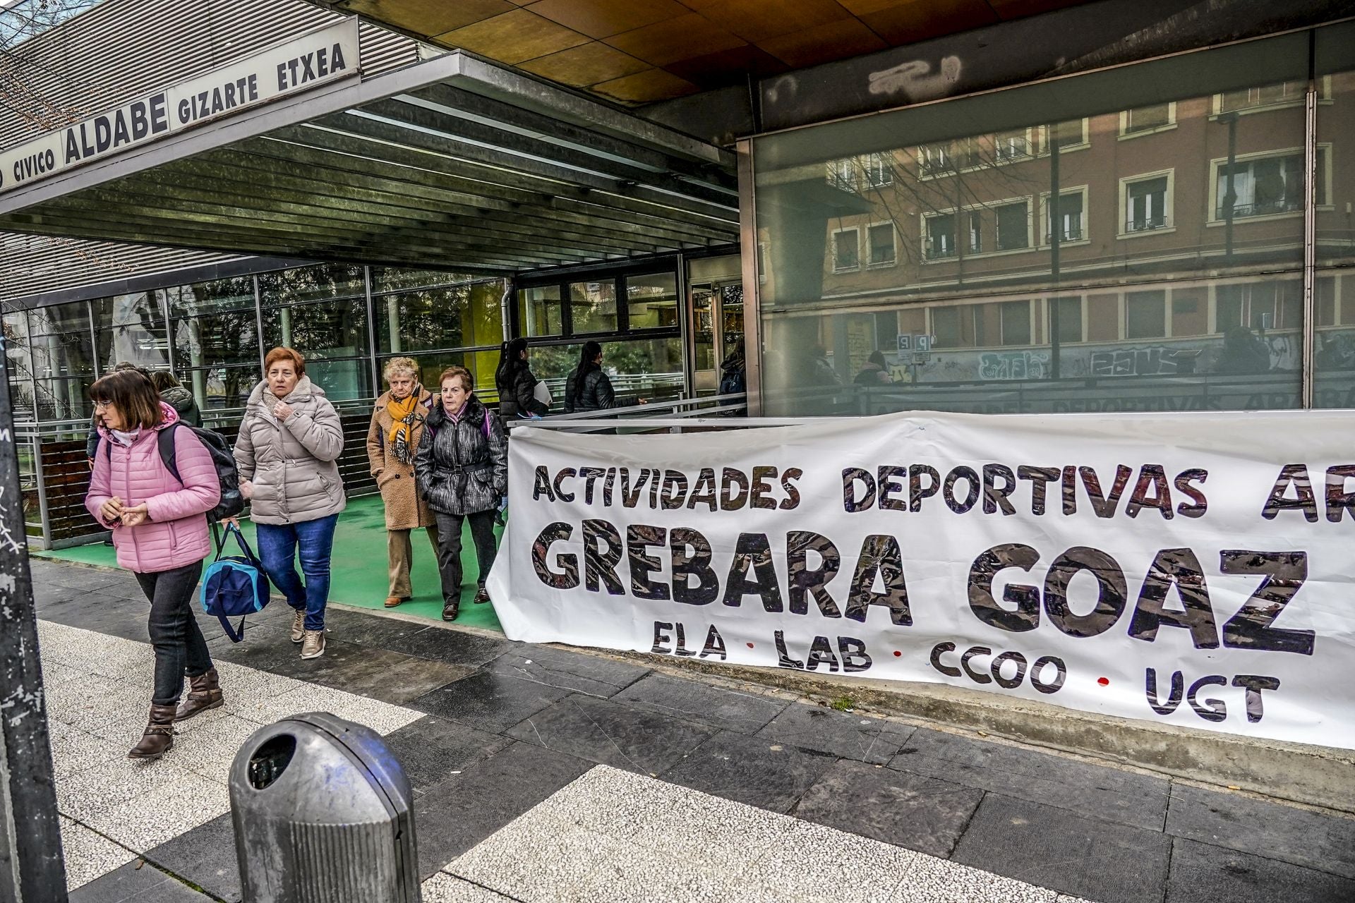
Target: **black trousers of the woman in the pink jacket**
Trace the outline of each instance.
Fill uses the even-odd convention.
[[[168,571],[137,574],[141,592],[150,600],[146,630],[156,650],[156,690],[150,701],[173,705],[183,693],[183,676],[206,674],[211,669],[207,640],[192,616],[192,593],[202,577],[202,562]]]

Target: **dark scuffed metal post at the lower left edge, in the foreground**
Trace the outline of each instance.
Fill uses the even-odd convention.
[[[7,371],[0,376],[0,899],[64,903],[66,872],[26,546]]]

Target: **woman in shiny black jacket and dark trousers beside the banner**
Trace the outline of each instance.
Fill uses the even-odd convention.
[[[438,575],[442,619],[461,611],[461,523],[470,521],[480,565],[476,602],[488,602],[485,579],[493,567],[495,510],[508,493],[508,440],[503,421],[474,397],[476,379],[465,367],[442,371],[442,403],[424,420],[415,456],[415,481],[438,521]]]

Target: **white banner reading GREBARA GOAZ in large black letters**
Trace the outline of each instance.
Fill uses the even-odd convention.
[[[1355,749],[1347,412],[514,431],[511,639]]]

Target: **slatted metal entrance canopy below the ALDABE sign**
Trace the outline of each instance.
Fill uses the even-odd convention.
[[[0,230],[515,272],[738,240],[733,156],[449,53],[0,195]]]

